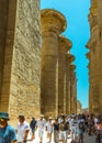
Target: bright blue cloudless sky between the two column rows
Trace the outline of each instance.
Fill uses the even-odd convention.
[[[88,59],[86,44],[90,37],[88,14],[90,0],[41,0],[41,9],[55,9],[61,12],[67,20],[67,29],[63,33],[72,42],[70,53],[75,55],[77,66],[77,98],[83,108],[89,103]]]

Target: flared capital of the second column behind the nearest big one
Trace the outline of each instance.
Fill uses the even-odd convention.
[[[59,40],[59,46],[63,47],[65,52],[68,52],[71,48],[72,43],[70,42],[69,38],[60,35],[58,40]]]

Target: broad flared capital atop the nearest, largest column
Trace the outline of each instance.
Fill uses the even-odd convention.
[[[66,18],[57,10],[41,10],[42,32],[56,32],[58,35],[66,30]]]

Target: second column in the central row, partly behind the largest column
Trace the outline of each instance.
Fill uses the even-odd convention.
[[[68,95],[67,95],[67,75],[66,74],[66,53],[70,50],[71,42],[59,36],[59,56],[58,56],[58,113],[67,113]]]

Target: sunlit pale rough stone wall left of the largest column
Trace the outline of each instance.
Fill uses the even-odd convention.
[[[10,113],[39,114],[41,25],[39,1],[16,3]]]

